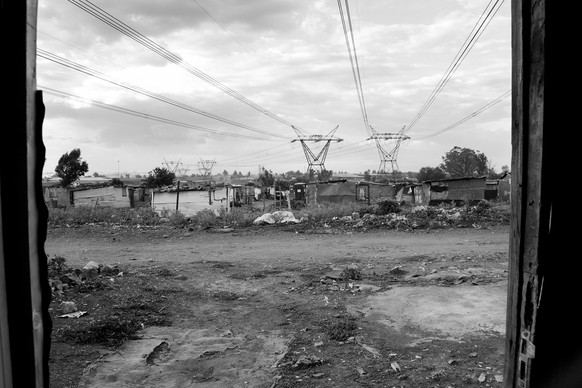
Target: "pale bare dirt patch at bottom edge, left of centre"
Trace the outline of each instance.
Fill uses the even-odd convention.
[[[288,344],[278,333],[151,327],[88,366],[78,387],[268,387]]]

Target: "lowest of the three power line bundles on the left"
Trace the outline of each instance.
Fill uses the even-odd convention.
[[[264,140],[264,138],[260,138],[260,137],[247,136],[247,135],[242,135],[242,134],[238,134],[238,133],[230,133],[230,132],[218,131],[218,130],[201,127],[201,126],[194,125],[194,124],[188,124],[188,123],[183,123],[183,122],[176,121],[176,120],[167,119],[165,117],[151,115],[149,113],[143,113],[143,112],[139,112],[139,111],[132,110],[132,109],[128,109],[128,108],[123,108],[123,107],[120,107],[120,106],[117,106],[117,105],[106,104],[106,103],[101,102],[101,101],[96,101],[96,100],[92,100],[92,99],[80,97],[80,96],[77,96],[77,95],[74,95],[74,94],[66,93],[66,92],[63,92],[63,91],[60,91],[60,90],[57,90],[57,89],[52,89],[52,88],[49,88],[49,87],[46,87],[46,86],[40,86],[39,85],[39,88],[42,89],[43,91],[45,91],[46,93],[51,94],[53,96],[57,96],[57,97],[61,97],[61,98],[75,99],[77,101],[81,101],[81,102],[84,102],[84,103],[87,103],[87,104],[90,104],[90,105],[93,105],[93,106],[97,106],[99,108],[108,109],[108,110],[111,110],[111,111],[114,111],[114,112],[123,113],[123,114],[127,114],[127,115],[130,115],[130,116],[141,117],[141,118],[144,118],[144,119],[158,121],[158,122],[161,122],[161,123],[175,125],[175,126],[178,126],[178,127],[195,129],[197,131],[207,132],[207,133],[211,133],[213,135],[231,136],[231,137],[237,137],[237,138],[242,138],[242,139],[250,139],[250,140]]]

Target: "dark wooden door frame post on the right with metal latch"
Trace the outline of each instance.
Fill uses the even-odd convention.
[[[511,234],[506,328],[506,387],[582,386],[580,219],[559,190],[579,164],[577,142],[556,128],[578,109],[577,63],[561,45],[577,15],[548,0],[512,1]]]

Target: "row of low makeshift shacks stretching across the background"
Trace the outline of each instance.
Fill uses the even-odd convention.
[[[205,209],[228,211],[234,206],[252,205],[260,201],[265,192],[275,193],[275,188],[241,185],[203,188],[177,185],[149,190],[138,186],[103,185],[71,189],[45,187],[44,195],[48,207],[133,208],[138,202],[145,203],[147,200],[157,212],[179,210],[185,215],[193,215]],[[284,200],[279,204],[282,207],[300,208],[323,202],[358,202],[371,205],[383,200],[394,200],[417,205],[459,205],[481,200],[508,201],[509,193],[509,174],[498,179],[481,176],[400,184],[344,179],[295,183],[289,191],[281,193]]]

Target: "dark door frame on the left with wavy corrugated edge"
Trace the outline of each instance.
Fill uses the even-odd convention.
[[[0,386],[48,387],[51,291],[44,253],[44,104],[36,90],[37,1],[0,5],[2,113],[11,130],[0,152]],[[10,179],[10,180],[9,180]]]

